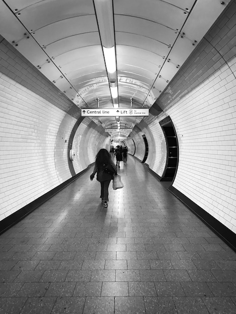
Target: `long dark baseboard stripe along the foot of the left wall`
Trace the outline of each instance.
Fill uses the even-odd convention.
[[[13,213],[12,215],[8,216],[7,218],[0,221],[0,234],[7,231],[9,228],[17,224],[19,221],[21,221],[24,217],[29,215],[31,212],[33,212],[37,207],[48,201],[51,197],[53,197],[55,194],[60,192],[62,189],[67,187],[69,184],[71,184],[73,181],[78,179],[81,175],[83,175],[90,167],[94,165],[89,165],[86,169],[81,171],[79,174],[75,175],[74,177],[68,179],[67,181],[63,182],[56,188],[52,189],[51,191],[47,192],[46,194],[42,195],[38,199],[34,200],[30,204],[22,207],[17,212]]]

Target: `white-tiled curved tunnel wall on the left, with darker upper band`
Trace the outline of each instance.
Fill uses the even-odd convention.
[[[0,221],[71,178],[68,140],[80,109],[0,37]],[[68,114],[68,113],[69,114]],[[105,136],[84,119],[75,134],[76,174]]]

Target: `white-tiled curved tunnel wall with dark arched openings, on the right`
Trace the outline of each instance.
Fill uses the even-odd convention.
[[[173,187],[236,233],[236,1],[209,30],[159,98],[164,112],[145,118],[156,146],[147,163],[158,175],[164,164],[159,121],[170,116],[179,142]],[[137,138],[139,138],[137,140]],[[140,137],[135,136],[137,144]],[[165,142],[164,142],[165,145]],[[138,153],[140,150],[138,150]],[[143,151],[142,151],[143,154]],[[153,160],[151,160],[151,156]],[[137,154],[142,160],[143,155]]]

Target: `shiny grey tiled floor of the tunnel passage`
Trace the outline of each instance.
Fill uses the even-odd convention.
[[[236,313],[236,253],[146,168],[92,170],[0,236],[0,313]]]

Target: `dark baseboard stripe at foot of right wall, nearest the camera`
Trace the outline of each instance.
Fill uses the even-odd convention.
[[[191,212],[193,212],[199,219],[201,219],[218,237],[220,237],[232,250],[236,251],[236,234],[225,227],[221,222],[207,213],[200,206],[191,201],[183,193],[170,186],[170,191],[177,197],[184,205],[186,205]]]

